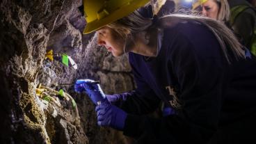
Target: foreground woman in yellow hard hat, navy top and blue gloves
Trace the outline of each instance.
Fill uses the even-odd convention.
[[[84,33],[96,31],[98,44],[113,56],[128,53],[137,86],[104,95],[92,80],[77,80],[75,90],[86,90],[97,105],[97,124],[123,131],[136,143],[255,141],[255,57],[223,23],[191,15],[158,17],[148,2],[84,1]],[[145,115],[160,102],[172,114]]]

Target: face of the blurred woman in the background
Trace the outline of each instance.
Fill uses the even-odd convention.
[[[217,19],[219,6],[215,0],[208,0],[202,4],[202,15]]]

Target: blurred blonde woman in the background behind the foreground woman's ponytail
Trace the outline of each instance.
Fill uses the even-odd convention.
[[[199,0],[202,15],[224,22],[234,31],[239,41],[256,56],[255,8],[244,0]]]

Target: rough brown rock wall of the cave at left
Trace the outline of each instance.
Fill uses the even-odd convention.
[[[82,35],[81,0],[2,0],[0,2],[0,142],[1,143],[128,143],[118,131],[96,124],[95,106],[86,94],[74,93],[76,79],[99,80],[107,94],[134,88],[127,56],[105,56],[94,33]],[[78,69],[45,59],[46,51],[65,53]],[[78,106],[60,99],[49,104],[35,90],[41,84],[69,93]]]

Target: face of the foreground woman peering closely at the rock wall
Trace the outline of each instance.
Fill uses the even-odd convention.
[[[104,26],[97,32],[97,44],[104,46],[113,56],[121,56],[124,54],[123,47],[125,40],[118,36],[118,33],[113,29]]]

